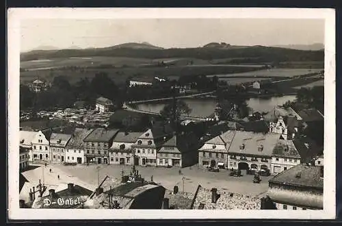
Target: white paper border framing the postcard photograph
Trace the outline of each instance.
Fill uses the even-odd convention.
[[[18,205],[20,21],[27,18],[323,18],[325,23],[324,210],[36,210]],[[334,218],[335,203],[335,14],[295,8],[11,8],[8,10],[8,216],[43,219]]]

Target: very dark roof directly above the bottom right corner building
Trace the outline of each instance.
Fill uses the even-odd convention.
[[[323,147],[319,147],[315,140],[308,136],[300,136],[293,140],[293,144],[301,157],[301,162],[313,160],[317,155],[323,153]]]

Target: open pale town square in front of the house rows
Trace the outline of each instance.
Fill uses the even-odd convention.
[[[131,166],[124,165],[83,165],[64,166],[62,164],[51,164],[50,167],[57,168],[69,177],[78,177],[87,184],[97,186],[107,175],[111,181],[120,181],[122,171],[129,175]],[[173,190],[178,186],[181,192],[195,193],[198,184],[203,188],[220,188],[226,192],[235,192],[250,196],[262,197],[268,189],[268,180],[272,177],[261,177],[260,184],[253,184],[253,175],[242,173],[241,177],[229,176],[229,171],[209,172],[206,169],[192,166],[188,168],[161,168],[135,166],[144,179],[153,181],[166,189]],[[181,174],[179,173],[181,170]]]

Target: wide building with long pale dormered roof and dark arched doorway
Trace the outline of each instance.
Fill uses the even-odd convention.
[[[228,168],[270,171],[272,153],[280,134],[235,131],[228,147]]]

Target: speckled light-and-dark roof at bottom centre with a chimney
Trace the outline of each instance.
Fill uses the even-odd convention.
[[[220,197],[211,202],[211,190],[200,187],[195,197],[193,209],[204,210],[261,210],[261,199],[218,189]],[[202,208],[200,205],[202,204]]]

